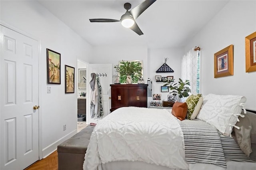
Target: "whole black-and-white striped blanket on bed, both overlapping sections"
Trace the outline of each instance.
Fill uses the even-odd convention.
[[[184,135],[185,161],[210,163],[227,168],[226,161],[255,162],[250,160],[230,136],[195,119],[180,122]]]

